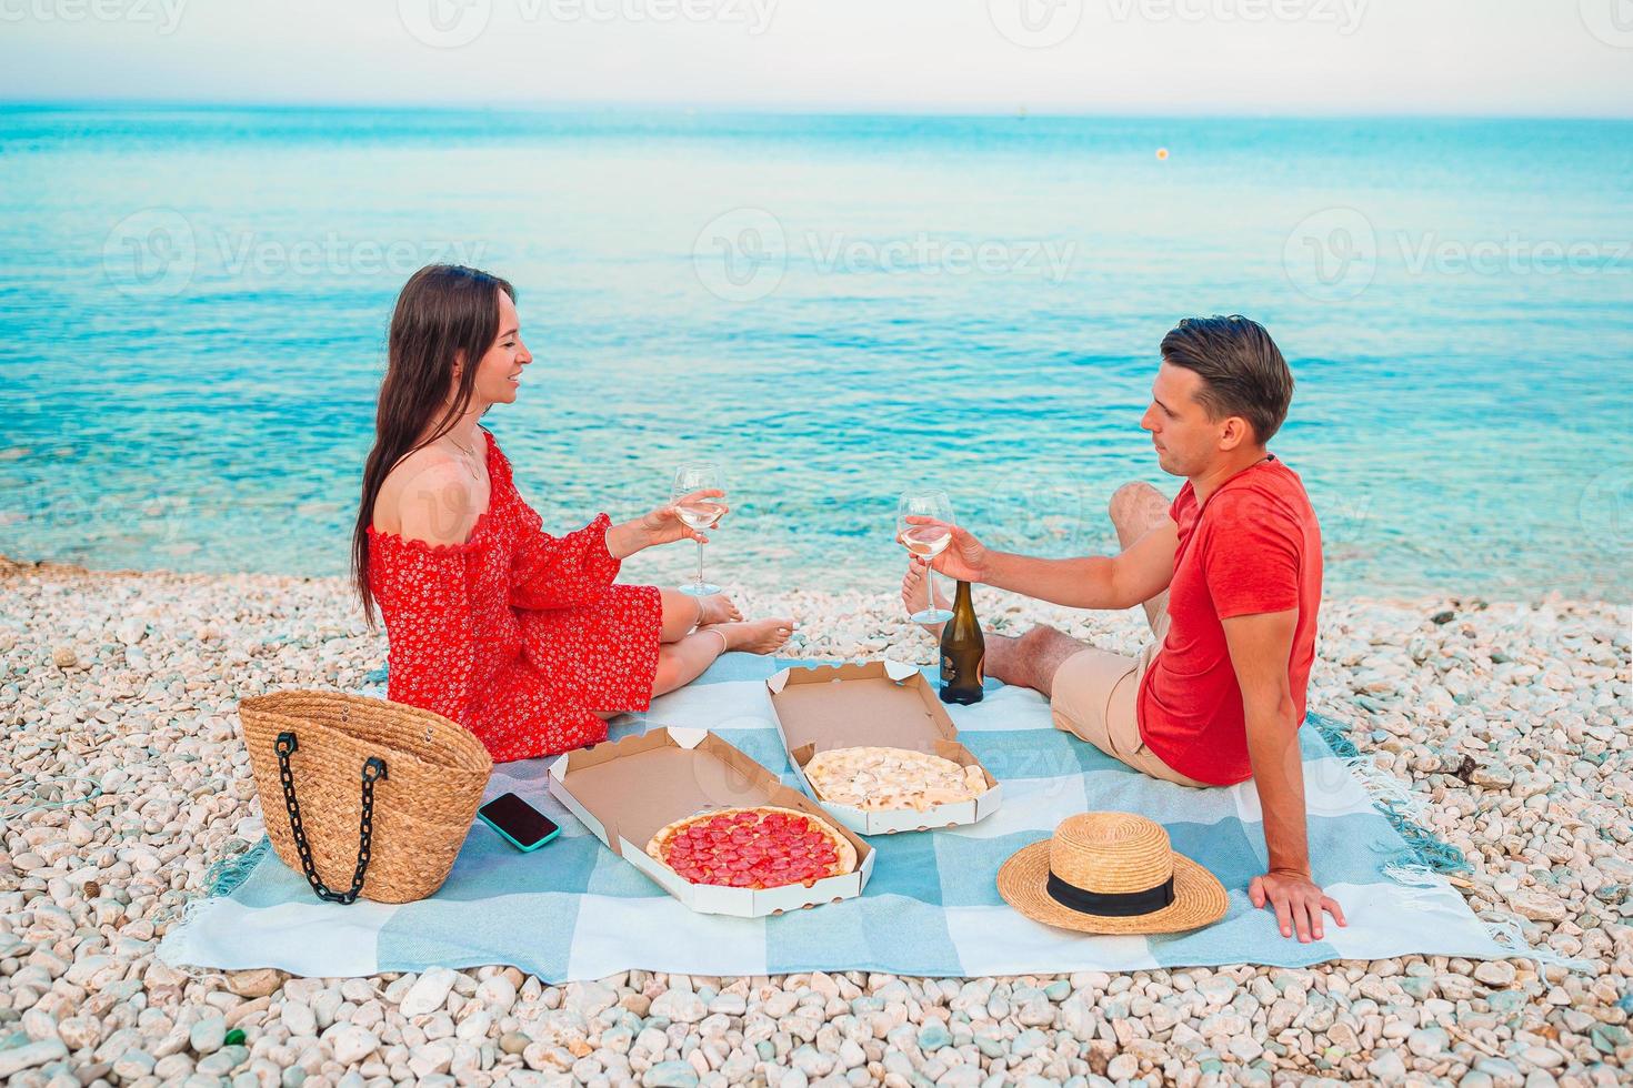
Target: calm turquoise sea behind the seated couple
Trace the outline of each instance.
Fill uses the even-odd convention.
[[[1174,491],[1163,333],[1239,312],[1334,592],[1625,600],[1630,206],[1630,122],[0,108],[0,551],[341,573],[392,299],[452,259],[518,285],[487,422],[545,522],[719,460],[727,584],[893,584],[921,481],[1112,546],[1117,483]]]

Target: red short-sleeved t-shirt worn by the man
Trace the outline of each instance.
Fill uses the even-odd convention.
[[[1168,507],[1179,525],[1168,636],[1140,683],[1140,736],[1159,760],[1197,781],[1253,778],[1241,687],[1221,620],[1298,608],[1287,679],[1305,719],[1321,605],[1321,527],[1298,475],[1259,462],[1197,506],[1190,481]]]

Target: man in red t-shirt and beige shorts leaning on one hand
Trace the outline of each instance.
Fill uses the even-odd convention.
[[[1298,476],[1266,442],[1287,419],[1293,375],[1270,334],[1243,316],[1187,318],[1163,338],[1140,426],[1179,498],[1145,483],[1110,502],[1122,553],[1037,559],[963,529],[934,566],[1075,608],[1143,604],[1155,641],[1125,657],[1037,626],[986,633],[986,670],[1050,697],[1055,724],[1124,763],[1182,786],[1254,780],[1269,871],[1257,907],[1284,936],[1319,940],[1341,907],[1313,882],[1298,726],[1321,605],[1321,529]],[[924,600],[919,559],[901,584]],[[932,631],[934,633],[934,631]]]

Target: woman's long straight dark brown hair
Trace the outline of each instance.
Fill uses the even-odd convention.
[[[441,439],[465,414],[477,382],[477,362],[500,331],[501,290],[516,300],[514,289],[498,276],[457,264],[429,264],[410,276],[397,295],[385,380],[380,382],[374,413],[374,449],[363,467],[363,502],[351,533],[353,587],[371,630],[376,626],[374,592],[369,589],[374,501],[397,462]],[[449,403],[456,360],[465,365],[459,370],[459,387]]]

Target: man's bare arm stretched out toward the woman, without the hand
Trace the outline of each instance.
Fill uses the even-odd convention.
[[[1068,608],[1132,608],[1168,589],[1177,546],[1179,527],[1163,519],[1115,556],[1037,559],[988,550],[981,581]]]

